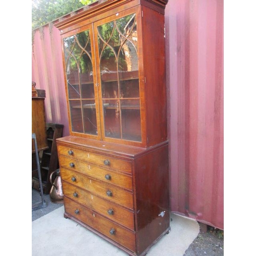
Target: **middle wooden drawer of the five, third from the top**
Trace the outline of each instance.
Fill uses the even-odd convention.
[[[122,190],[105,182],[96,181],[63,167],[60,168],[60,175],[62,180],[86,189],[93,194],[126,206],[132,210],[134,208],[133,194],[128,191]]]

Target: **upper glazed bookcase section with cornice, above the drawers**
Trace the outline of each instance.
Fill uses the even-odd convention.
[[[167,140],[166,3],[98,1],[55,24],[70,135],[137,147]]]

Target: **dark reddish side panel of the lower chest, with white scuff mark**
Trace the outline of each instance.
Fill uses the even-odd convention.
[[[168,147],[135,160],[137,253],[169,227]]]

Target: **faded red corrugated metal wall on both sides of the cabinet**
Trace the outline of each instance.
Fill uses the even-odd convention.
[[[165,10],[170,206],[224,229],[223,0],[169,0]],[[32,81],[47,122],[69,134],[59,31],[35,31]]]

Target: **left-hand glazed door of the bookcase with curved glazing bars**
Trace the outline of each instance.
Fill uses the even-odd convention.
[[[92,26],[63,38],[70,132],[100,138]]]

